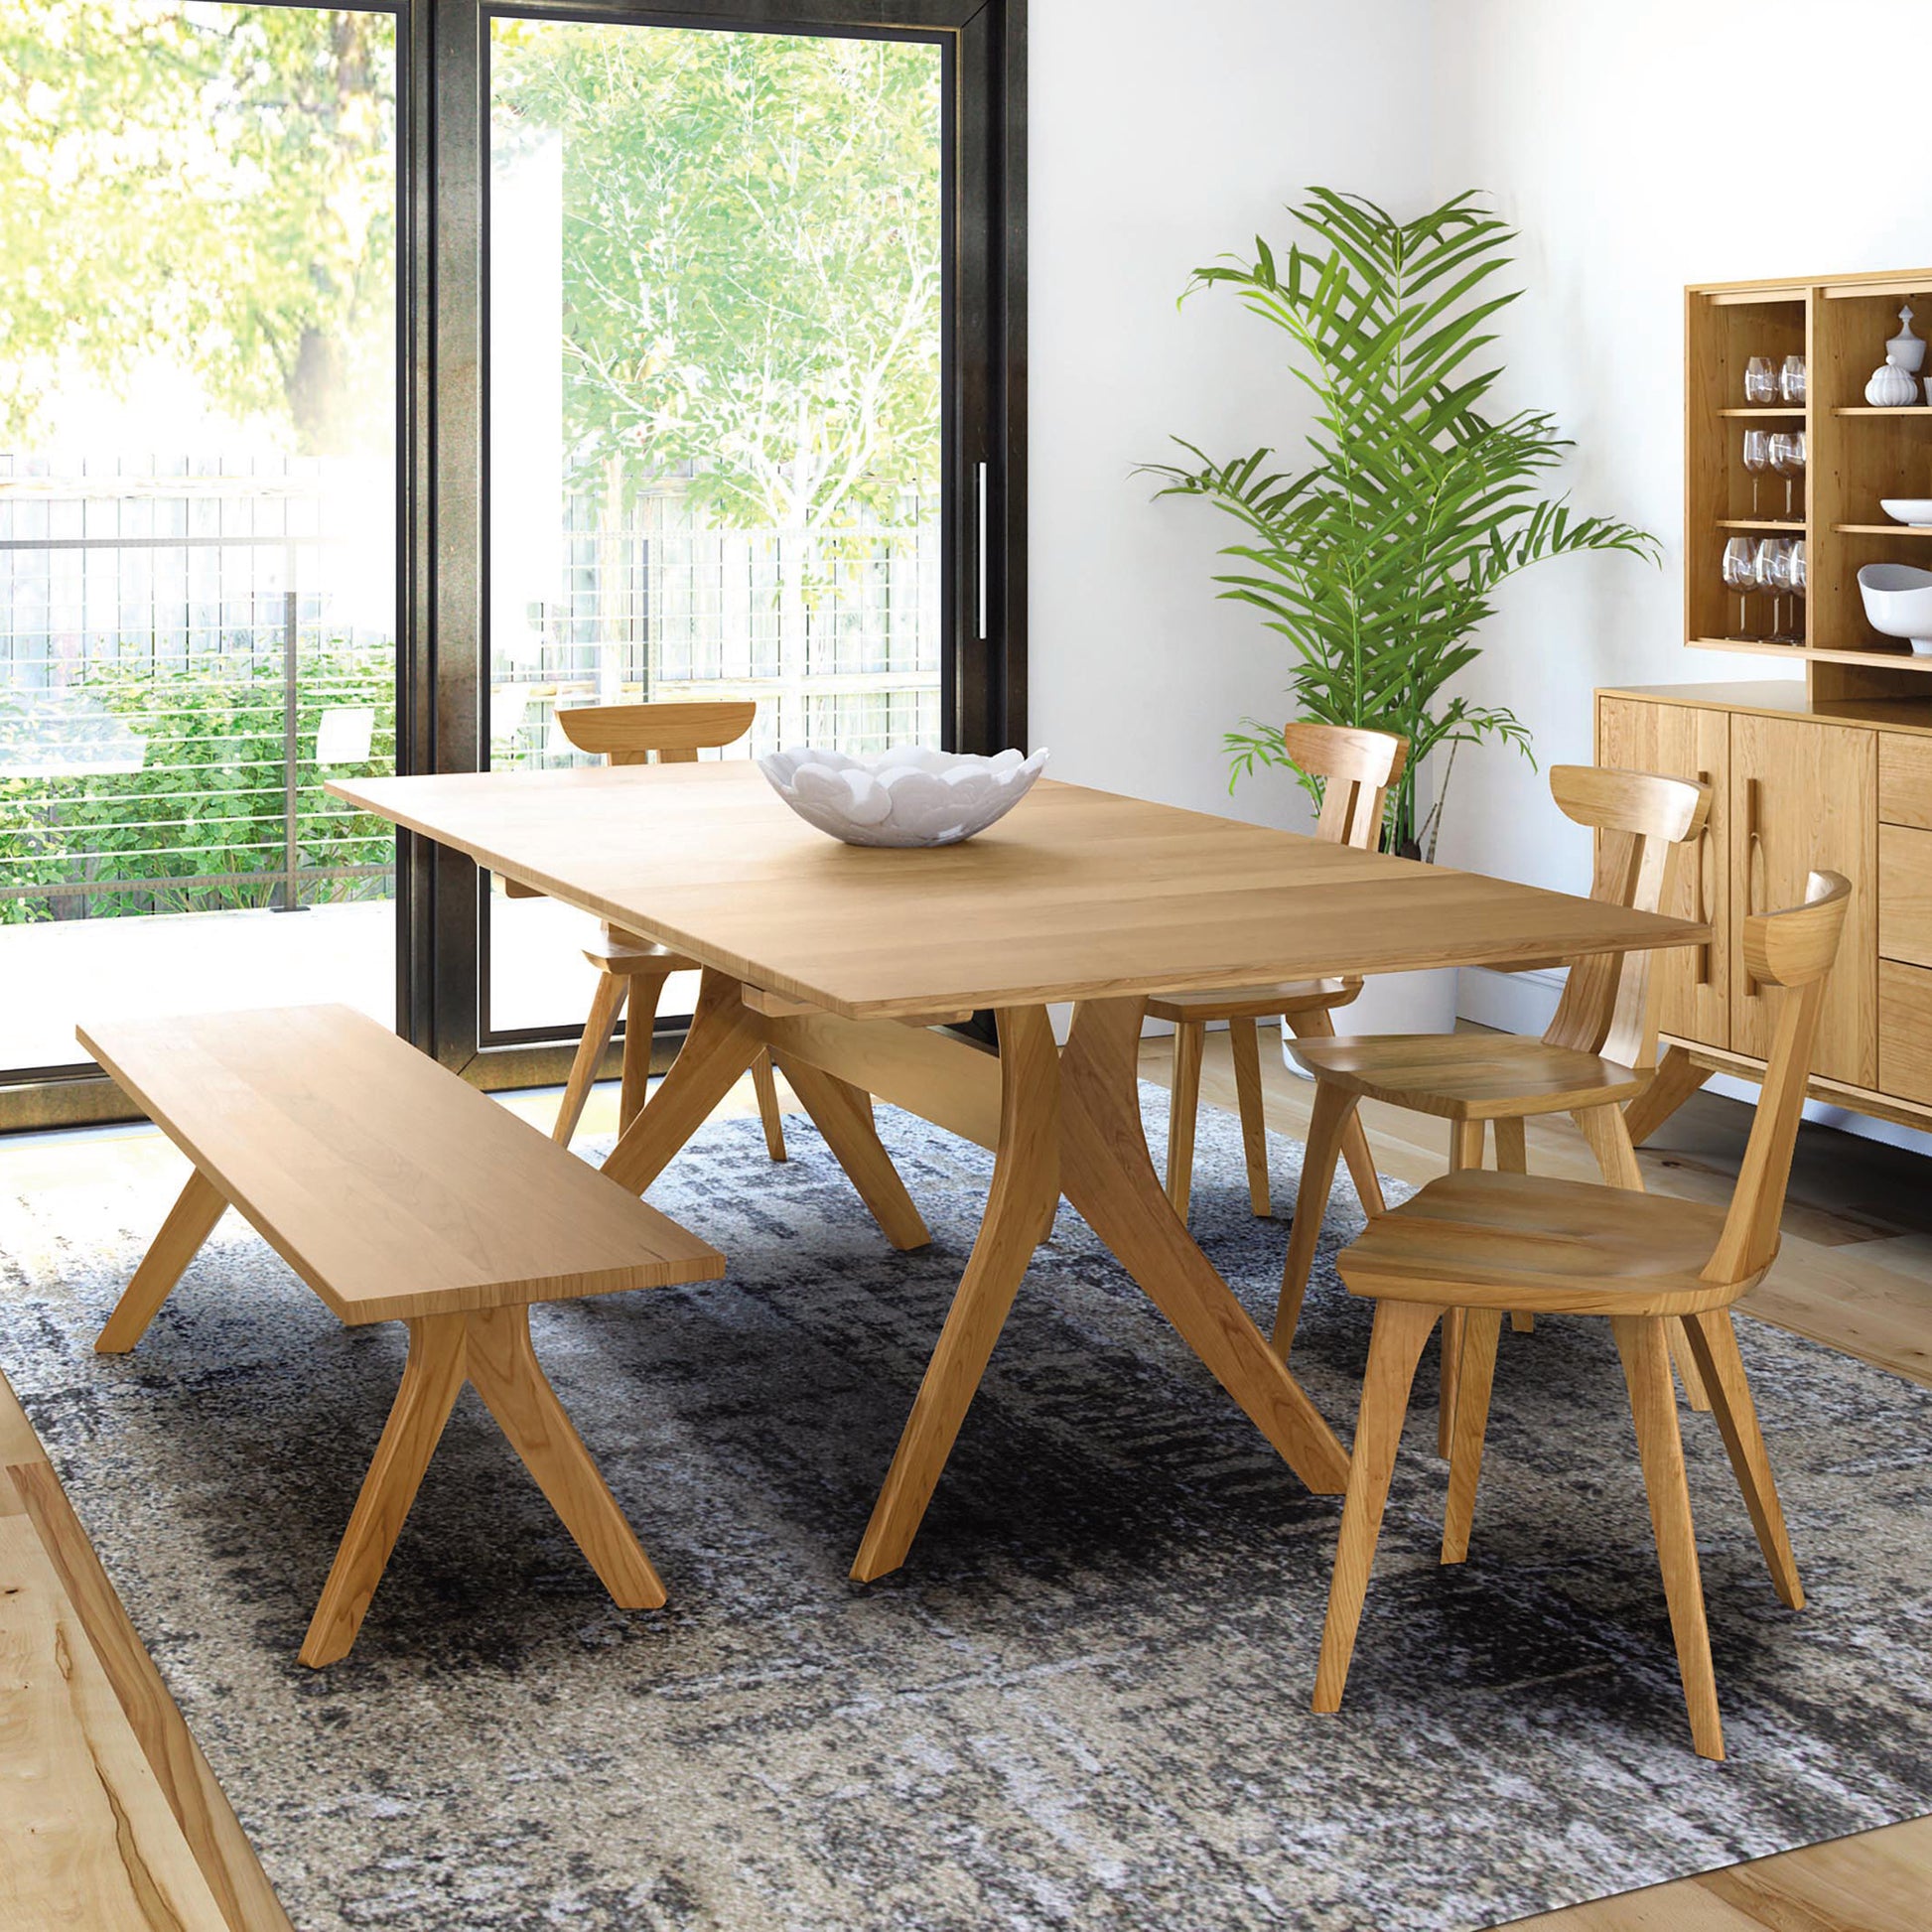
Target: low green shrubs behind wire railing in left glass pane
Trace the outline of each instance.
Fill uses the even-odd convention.
[[[0,779],[0,877],[10,885],[141,881],[135,893],[81,900],[75,910],[91,918],[278,902],[272,875],[288,862],[280,659],[234,657],[214,670],[110,661],[91,667],[81,690],[145,740],[141,769]],[[327,773],[317,765],[317,726],[328,705],[375,707],[367,763],[332,765]],[[296,753],[298,866],[392,866],[394,827],[352,811],[321,788],[325,777],[394,771],[392,649],[303,653]],[[211,873],[257,877],[195,883]],[[309,879],[301,900],[323,904],[384,889],[384,881],[367,877]],[[50,900],[0,900],[0,923],[48,918],[50,906]]]

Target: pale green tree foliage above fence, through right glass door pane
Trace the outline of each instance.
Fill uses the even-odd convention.
[[[497,21],[495,151],[562,143],[564,439],[734,527],[891,518],[939,471],[939,54]]]

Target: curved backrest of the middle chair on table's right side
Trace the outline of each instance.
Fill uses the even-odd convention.
[[[1590,896],[1660,912],[1683,854],[1704,833],[1710,786],[1650,771],[1551,765],[1557,810],[1596,833]],[[1571,960],[1563,999],[1544,1030],[1553,1047],[1648,1066],[1658,1043],[1658,985],[1650,952],[1592,952]]]

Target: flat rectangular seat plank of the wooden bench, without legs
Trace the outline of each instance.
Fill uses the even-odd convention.
[[[77,1036],[346,1323],[724,1273],[707,1242],[350,1007]]]

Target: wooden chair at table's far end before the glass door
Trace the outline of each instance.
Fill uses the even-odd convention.
[[[653,757],[661,765],[696,763],[699,752],[736,744],[757,715],[752,699],[728,703],[657,703],[657,705],[580,705],[556,713],[556,728],[580,752],[591,752],[612,765],[645,765]],[[618,1016],[630,1005],[624,1026],[624,1080],[618,1090],[618,1132],[638,1117],[651,1080],[651,1032],[657,1020],[657,1001],[665,981],[674,972],[697,972],[699,962],[672,952],[651,939],[605,925],[583,956],[597,968],[597,991],[583,1022],[570,1078],[564,1082],[564,1103],[556,1113],[551,1138],[568,1146],[583,1115],[597,1066]],[[784,1159],[784,1121],[779,1113],[779,1084],[771,1055],[761,1053],[752,1063],[752,1084],[757,1090],[757,1115],[765,1124],[765,1151]]]

